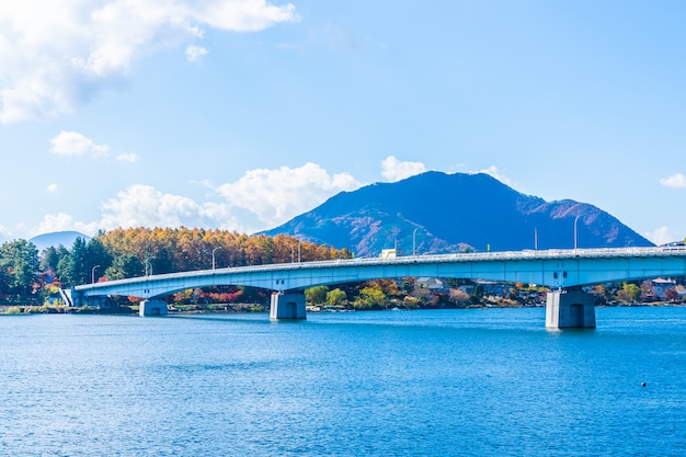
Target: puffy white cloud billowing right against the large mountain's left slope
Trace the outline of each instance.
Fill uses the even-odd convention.
[[[359,185],[347,173],[330,176],[318,164],[306,163],[295,169],[251,170],[237,182],[219,186],[217,192],[226,197],[228,205],[253,213],[271,228]]]

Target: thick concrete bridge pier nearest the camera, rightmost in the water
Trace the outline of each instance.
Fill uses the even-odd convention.
[[[583,292],[550,292],[546,299],[547,329],[595,329],[595,302]]]

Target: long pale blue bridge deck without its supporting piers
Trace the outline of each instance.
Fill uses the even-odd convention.
[[[568,249],[479,252],[400,258],[342,259],[203,270],[81,285],[83,297],[162,297],[216,285],[272,290],[304,289],[374,278],[456,277],[522,282],[550,287],[686,275],[686,248]]]

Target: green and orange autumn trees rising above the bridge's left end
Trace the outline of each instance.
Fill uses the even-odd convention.
[[[58,287],[145,274],[271,263],[351,259],[328,244],[277,235],[187,228],[130,228],[77,238],[39,253],[20,239],[0,245],[0,300],[43,302]]]

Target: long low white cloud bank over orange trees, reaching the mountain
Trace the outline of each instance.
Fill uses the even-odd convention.
[[[45,233],[130,227],[211,227],[254,232],[275,227],[312,209],[330,196],[359,187],[347,173],[330,175],[315,163],[300,168],[251,170],[241,179],[214,187],[224,202],[198,203],[192,198],[136,184],[101,204],[101,218],[80,222],[67,214],[46,215],[33,230]]]

